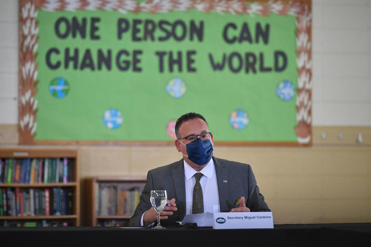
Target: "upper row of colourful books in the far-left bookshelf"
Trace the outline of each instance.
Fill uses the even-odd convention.
[[[70,158],[0,158],[0,184],[73,181]]]

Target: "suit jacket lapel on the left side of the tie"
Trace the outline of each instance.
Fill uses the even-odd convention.
[[[177,197],[177,208],[180,214],[180,220],[185,216],[185,183],[184,183],[184,163],[181,159],[173,170],[173,181],[175,188],[175,195]],[[170,198],[171,199],[171,198]]]

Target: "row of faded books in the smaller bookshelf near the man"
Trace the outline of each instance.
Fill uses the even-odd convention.
[[[131,216],[134,214],[143,188],[135,187],[127,190],[120,185],[97,184],[96,215]]]

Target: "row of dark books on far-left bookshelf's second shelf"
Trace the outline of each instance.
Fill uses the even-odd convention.
[[[73,214],[73,188],[0,188],[0,216]]]

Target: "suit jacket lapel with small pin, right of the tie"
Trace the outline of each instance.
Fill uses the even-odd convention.
[[[228,212],[228,169],[218,158],[213,157],[218,184],[220,212]],[[223,182],[226,181],[226,182]]]

